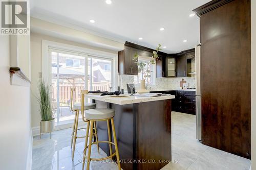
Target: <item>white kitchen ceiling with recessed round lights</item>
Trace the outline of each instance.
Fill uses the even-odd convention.
[[[130,41],[165,53],[193,48],[199,41],[199,18],[192,10],[209,0],[31,0],[30,15],[56,19],[117,41]],[[94,19],[95,23],[90,20]],[[160,31],[160,28],[165,28]],[[142,40],[139,40],[142,37]],[[183,42],[187,40],[187,42]]]

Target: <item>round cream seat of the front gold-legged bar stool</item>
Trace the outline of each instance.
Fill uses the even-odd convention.
[[[115,116],[114,109],[89,109],[85,112],[86,118],[93,120],[107,119]]]

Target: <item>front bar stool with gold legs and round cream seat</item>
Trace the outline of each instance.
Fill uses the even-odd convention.
[[[82,95],[82,99],[81,99],[81,112],[84,111],[84,94],[87,94],[88,90],[81,90],[81,95]],[[84,168],[84,162],[86,160],[87,157],[87,170],[89,170],[90,168],[90,161],[91,160],[105,160],[105,159],[109,159],[113,156],[116,155],[117,158],[117,165],[118,165],[118,169],[121,169],[121,165],[120,165],[120,158],[119,158],[119,152],[118,152],[118,147],[117,147],[117,140],[116,140],[116,131],[115,131],[115,125],[114,125],[114,116],[115,116],[115,110],[114,109],[88,109],[85,110],[85,116],[86,119],[89,121],[87,123],[87,131],[86,131],[86,142],[85,142],[85,146],[84,146],[84,150],[83,150],[83,163],[82,163],[82,169]],[[96,142],[92,142],[92,134],[93,134],[93,126],[96,125],[96,121],[103,121],[106,120],[106,123],[108,125],[108,137],[109,137],[109,141],[96,141]],[[110,121],[111,121],[111,125],[112,125],[112,131],[113,131],[113,138],[114,138],[114,143],[111,142],[111,132],[110,132]],[[89,128],[90,128],[90,135],[89,135]],[[89,137],[89,145],[88,145],[88,136]],[[97,136],[97,135],[96,135]],[[97,144],[98,143],[109,143],[109,147],[110,147],[110,156],[105,157],[105,158],[91,158],[91,151],[92,151],[92,144]],[[115,145],[115,150],[116,152],[114,152],[112,154],[112,145]],[[86,151],[88,148],[88,156],[86,156]]]

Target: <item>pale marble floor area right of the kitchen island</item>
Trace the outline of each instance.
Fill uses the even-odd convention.
[[[172,112],[172,159],[163,170],[248,170],[250,160],[215,148],[196,139],[196,116]]]

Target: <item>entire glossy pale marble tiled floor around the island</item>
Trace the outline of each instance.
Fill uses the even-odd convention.
[[[79,132],[84,134],[85,132]],[[78,139],[74,161],[70,149],[71,128],[55,131],[52,139],[49,134],[34,137],[32,169],[82,169],[82,150],[84,139]],[[243,170],[249,169],[250,160],[229,154],[201,144],[196,138],[196,117],[184,113],[172,112],[172,158],[163,170]],[[104,157],[103,151],[94,157]],[[90,169],[117,169],[115,163],[91,163]]]

